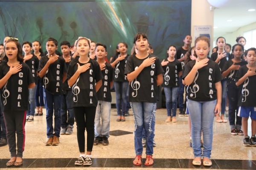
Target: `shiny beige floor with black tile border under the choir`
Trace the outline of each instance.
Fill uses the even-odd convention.
[[[87,170],[139,170],[134,167],[134,120],[116,122],[116,109],[111,110],[111,137],[108,146],[93,146],[93,165]],[[131,112],[130,112],[131,113]],[[72,135],[61,135],[59,146],[45,146],[46,120],[35,116],[35,121],[26,122],[26,145],[23,153],[23,169],[29,170],[77,170],[79,157],[76,141],[76,125]],[[243,136],[231,135],[229,123],[214,122],[212,167],[192,165],[193,150],[189,147],[188,117],[177,117],[177,123],[166,123],[166,109],[157,109],[155,125],[154,165],[149,169],[236,169],[256,170],[256,147],[242,146]],[[250,124],[250,123],[248,123]],[[249,133],[251,133],[249,128]],[[5,169],[10,157],[8,146],[0,147],[0,169]],[[143,158],[145,157],[145,150]],[[145,161],[145,158],[143,159]],[[15,168],[14,169],[20,169]]]

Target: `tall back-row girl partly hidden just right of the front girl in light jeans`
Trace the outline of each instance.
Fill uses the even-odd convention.
[[[224,37],[218,37],[217,38],[217,46],[218,50],[217,52],[213,53],[211,55],[211,60],[218,63],[221,70],[224,69],[224,65],[226,61],[231,59],[231,55],[228,52],[225,52],[224,48],[226,45],[226,39]],[[226,110],[226,98],[227,98],[227,79],[224,78],[221,81],[221,87],[222,87],[222,99],[221,99],[221,117],[220,115],[216,115],[216,121],[218,123],[224,122],[227,123],[227,120],[225,119],[225,110]]]

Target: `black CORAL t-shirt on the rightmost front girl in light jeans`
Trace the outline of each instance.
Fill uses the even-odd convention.
[[[196,60],[189,61],[183,73],[183,80],[192,70]],[[222,80],[221,70],[215,61],[208,61],[208,65],[195,75],[194,81],[187,88],[188,99],[192,101],[213,101],[217,99],[217,89],[215,83]]]

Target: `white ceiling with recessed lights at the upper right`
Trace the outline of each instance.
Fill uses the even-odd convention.
[[[256,22],[256,11],[248,12],[248,9],[256,9],[256,0],[219,0],[210,2],[212,6],[218,6],[214,9],[214,37],[219,37],[230,32],[234,32],[242,26]],[[227,22],[227,20],[232,20]]]

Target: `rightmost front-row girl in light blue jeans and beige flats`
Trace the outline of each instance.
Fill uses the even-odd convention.
[[[200,36],[195,40],[196,60],[186,64],[183,80],[188,85],[188,108],[191,119],[193,165],[211,166],[212,126],[214,114],[221,109],[221,71],[217,63],[207,58],[210,50],[208,37]],[[204,150],[202,154],[200,136],[203,131]]]

